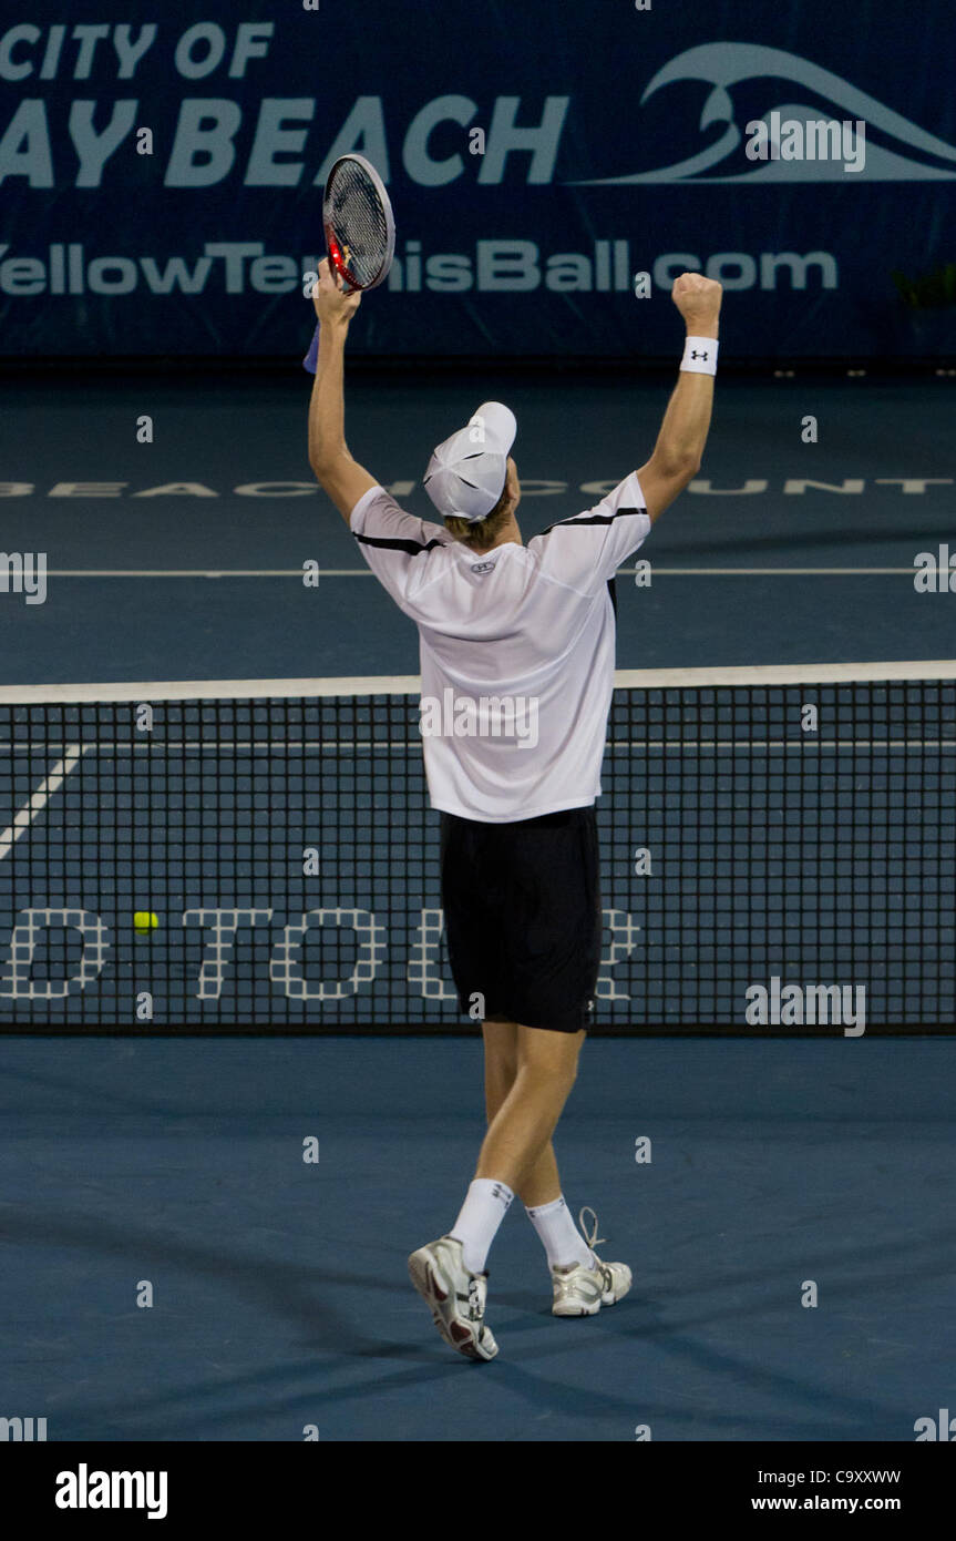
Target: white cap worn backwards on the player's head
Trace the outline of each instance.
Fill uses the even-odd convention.
[[[508,453],[517,422],[500,401],[486,401],[450,439],[439,444],[425,472],[425,492],[443,519],[477,524],[505,490]]]

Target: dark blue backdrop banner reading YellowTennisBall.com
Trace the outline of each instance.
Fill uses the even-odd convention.
[[[725,358],[956,353],[953,6],[83,12],[0,23],[6,356],[300,356],[349,149],[397,225],[354,351],[670,358],[694,270]]]

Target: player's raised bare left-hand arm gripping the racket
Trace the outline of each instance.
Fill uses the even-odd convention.
[[[345,339],[362,294],[343,294],[342,282],[331,276],[328,257],[323,257],[313,297],[320,327],[319,364],[309,402],[309,465],[348,524],[362,493],[376,485],[376,478],[353,459],[345,442]]]

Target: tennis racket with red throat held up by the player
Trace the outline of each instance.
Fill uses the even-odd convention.
[[[340,156],[328,174],[322,223],[329,265],[348,294],[376,288],[396,254],[396,222],[382,177],[365,156]],[[302,361],[316,373],[319,325]]]

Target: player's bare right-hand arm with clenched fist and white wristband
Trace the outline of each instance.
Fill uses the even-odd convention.
[[[724,290],[716,279],[682,273],[671,299],[684,316],[688,337],[717,337]],[[680,370],[647,465],[637,472],[647,512],[657,519],[700,470],[714,402],[714,376]]]

